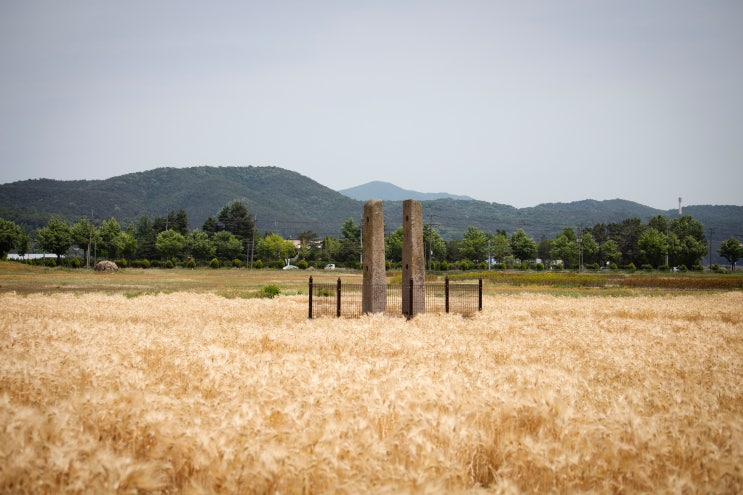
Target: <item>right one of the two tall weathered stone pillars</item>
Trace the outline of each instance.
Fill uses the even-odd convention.
[[[423,207],[420,201],[406,199],[402,203],[402,313],[408,317],[426,312],[425,275]]]

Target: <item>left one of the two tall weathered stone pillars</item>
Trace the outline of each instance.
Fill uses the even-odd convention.
[[[361,286],[361,311],[384,313],[387,308],[387,275],[384,260],[384,211],[382,201],[370,199],[364,203],[362,225],[364,257]]]

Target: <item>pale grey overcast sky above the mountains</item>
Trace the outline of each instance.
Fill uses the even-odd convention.
[[[0,183],[277,166],[743,205],[743,2],[0,0]]]

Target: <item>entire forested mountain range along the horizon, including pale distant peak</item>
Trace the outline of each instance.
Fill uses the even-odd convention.
[[[647,222],[655,215],[678,216],[677,210],[663,211],[622,199],[514,208],[467,196],[420,193],[379,181],[339,192],[278,167],[202,166],[158,168],[105,180],[34,179],[1,184],[0,217],[33,231],[52,215],[69,222],[91,215],[96,221],[114,217],[126,226],[142,215],[155,218],[183,209],[190,228],[196,229],[237,200],[256,215],[261,233],[272,231],[292,238],[311,230],[320,237],[338,237],[349,218],[360,224],[363,201],[371,198],[384,200],[387,232],[402,223],[403,199],[420,200],[424,221],[446,240],[461,238],[469,226],[490,233],[502,229],[509,234],[522,228],[538,241],[554,237],[566,227],[592,227],[633,217]],[[711,229],[713,251],[730,236],[743,239],[743,206],[689,205],[684,206],[683,213],[702,222],[706,232]]]

